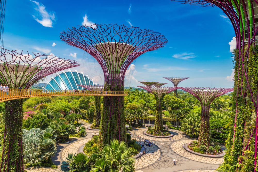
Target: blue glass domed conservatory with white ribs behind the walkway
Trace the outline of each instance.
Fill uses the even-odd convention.
[[[72,72],[62,71],[62,73],[56,73],[56,77],[51,77],[51,80],[47,82],[45,87],[42,89],[46,90],[82,90],[83,87],[78,85],[96,85],[94,84],[93,79],[89,79],[88,75],[84,75],[83,72],[78,73],[77,70]]]

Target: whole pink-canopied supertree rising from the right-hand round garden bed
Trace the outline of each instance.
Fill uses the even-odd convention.
[[[225,93],[231,92],[233,88],[208,88],[208,87],[178,87],[195,96],[201,104],[201,127],[199,133],[199,145],[209,146],[210,127],[209,127],[209,108],[211,102]]]

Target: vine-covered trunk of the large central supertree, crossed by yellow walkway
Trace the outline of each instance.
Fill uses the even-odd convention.
[[[110,83],[112,84],[105,84],[103,94],[105,91],[112,91],[112,94],[115,94],[116,91],[124,91],[124,84],[118,86],[114,81]],[[109,143],[113,139],[126,141],[124,96],[103,97],[99,144]]]

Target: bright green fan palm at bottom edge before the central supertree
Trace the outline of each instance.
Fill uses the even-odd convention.
[[[112,140],[109,145],[103,147],[99,158],[95,161],[95,168],[92,168],[91,171],[133,172],[135,171],[135,159],[131,155],[131,149],[124,141]]]

